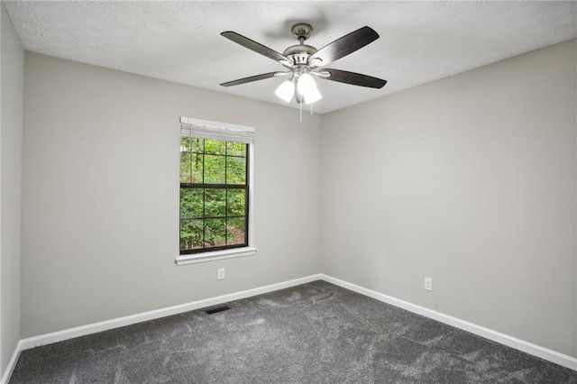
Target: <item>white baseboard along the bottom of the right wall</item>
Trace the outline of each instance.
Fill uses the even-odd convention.
[[[534,356],[540,357],[541,359],[545,359],[546,361],[552,361],[555,364],[562,365],[563,367],[569,368],[571,370],[577,370],[577,359],[568,356],[566,354],[555,352],[550,349],[541,347],[539,345],[528,343],[524,340],[520,340],[515,337],[509,336],[508,334],[501,334],[497,331],[493,331],[481,325],[475,325],[467,321],[461,320],[457,317],[444,315],[440,312],[428,309],[424,306],[417,306],[416,304],[409,303],[408,301],[399,300],[398,298],[390,297],[380,292],[368,288],[363,288],[355,284],[349,283],[347,281],[343,281],[341,279],[335,279],[333,277],[326,276],[324,274],[321,274],[321,279],[329,283],[333,283],[334,285],[337,285],[339,287],[350,289],[364,296],[376,298],[377,300],[390,304],[392,306],[398,306],[400,308],[408,310],[409,312],[413,312],[417,315],[424,315],[426,317],[440,321],[441,323],[452,325],[455,328],[460,328],[463,329],[464,331],[471,332],[472,334],[477,334],[481,337],[484,337],[497,343],[507,345],[508,347],[515,348],[519,351],[527,352]]]

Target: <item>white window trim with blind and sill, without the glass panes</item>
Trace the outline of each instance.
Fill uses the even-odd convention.
[[[188,131],[189,130],[189,131]],[[213,122],[210,120],[201,120],[192,117],[180,117],[180,136],[182,132],[195,132],[196,137],[216,140],[229,140],[234,142],[245,142],[249,146],[249,225],[248,225],[248,246],[242,248],[232,248],[222,251],[206,251],[200,253],[179,254],[176,258],[177,265],[193,264],[204,261],[215,261],[223,259],[231,259],[236,257],[251,256],[256,253],[256,247],[253,242],[253,228],[254,228],[254,160],[253,160],[253,146],[254,146],[254,128],[244,125],[237,125],[231,123]],[[180,142],[180,141],[179,141]],[[180,227],[179,227],[180,228]]]

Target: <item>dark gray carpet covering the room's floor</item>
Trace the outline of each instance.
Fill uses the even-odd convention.
[[[324,281],[24,351],[17,383],[577,383],[577,371]]]

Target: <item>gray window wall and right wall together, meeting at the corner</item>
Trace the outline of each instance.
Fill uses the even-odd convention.
[[[22,336],[322,271],[577,357],[575,59],[569,41],[298,123],[27,53]],[[174,265],[180,115],[256,127],[256,256]]]

